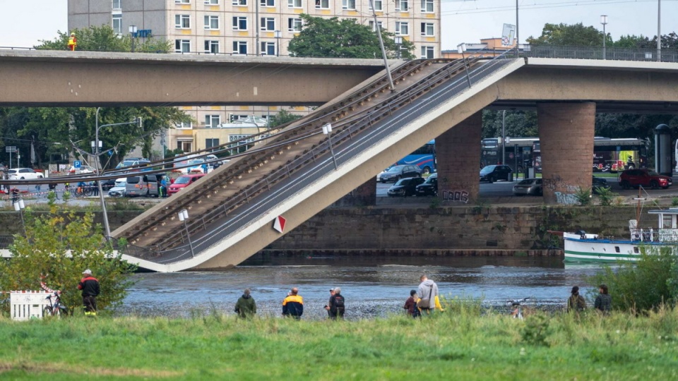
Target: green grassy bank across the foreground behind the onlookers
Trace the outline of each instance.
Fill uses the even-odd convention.
[[[675,380],[678,311],[412,320],[0,320],[0,378]],[[452,377],[452,378],[451,378]]]

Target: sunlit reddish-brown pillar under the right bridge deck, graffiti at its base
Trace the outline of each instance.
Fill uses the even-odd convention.
[[[537,104],[544,201],[576,203],[577,188],[590,189],[595,103]]]

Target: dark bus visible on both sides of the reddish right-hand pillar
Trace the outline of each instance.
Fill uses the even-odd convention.
[[[636,138],[612,139],[593,138],[594,172],[616,173],[624,169],[647,166],[647,140]],[[526,167],[534,167],[535,173],[542,171],[542,155],[539,138],[511,138],[506,144],[506,157],[501,160],[501,138],[489,138],[481,141],[481,167],[489,164],[506,164],[522,172]]]

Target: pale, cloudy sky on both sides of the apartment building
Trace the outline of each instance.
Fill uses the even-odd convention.
[[[108,0],[98,0],[108,1]],[[393,1],[393,0],[385,0]],[[410,0],[417,1],[417,0]],[[545,23],[583,23],[602,30],[600,15],[607,15],[606,32],[622,35],[657,34],[658,0],[517,0],[520,42],[542,34]],[[0,0],[0,47],[32,47],[53,40],[68,28],[67,0]],[[501,37],[504,23],[516,23],[515,0],[441,0],[442,49],[457,44]],[[678,32],[678,0],[661,0],[662,35]]]

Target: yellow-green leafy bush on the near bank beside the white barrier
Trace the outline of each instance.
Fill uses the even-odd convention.
[[[94,224],[93,214],[73,214],[59,207],[54,195],[49,197],[49,207],[49,214],[40,215],[26,207],[26,236],[14,236],[12,258],[0,262],[0,289],[40,289],[40,277],[46,275],[47,286],[64,291],[61,300],[77,310],[82,306],[78,282],[83,270],[90,269],[101,285],[97,306],[116,307],[131,286],[129,274],[136,266],[102,244],[101,226]]]

